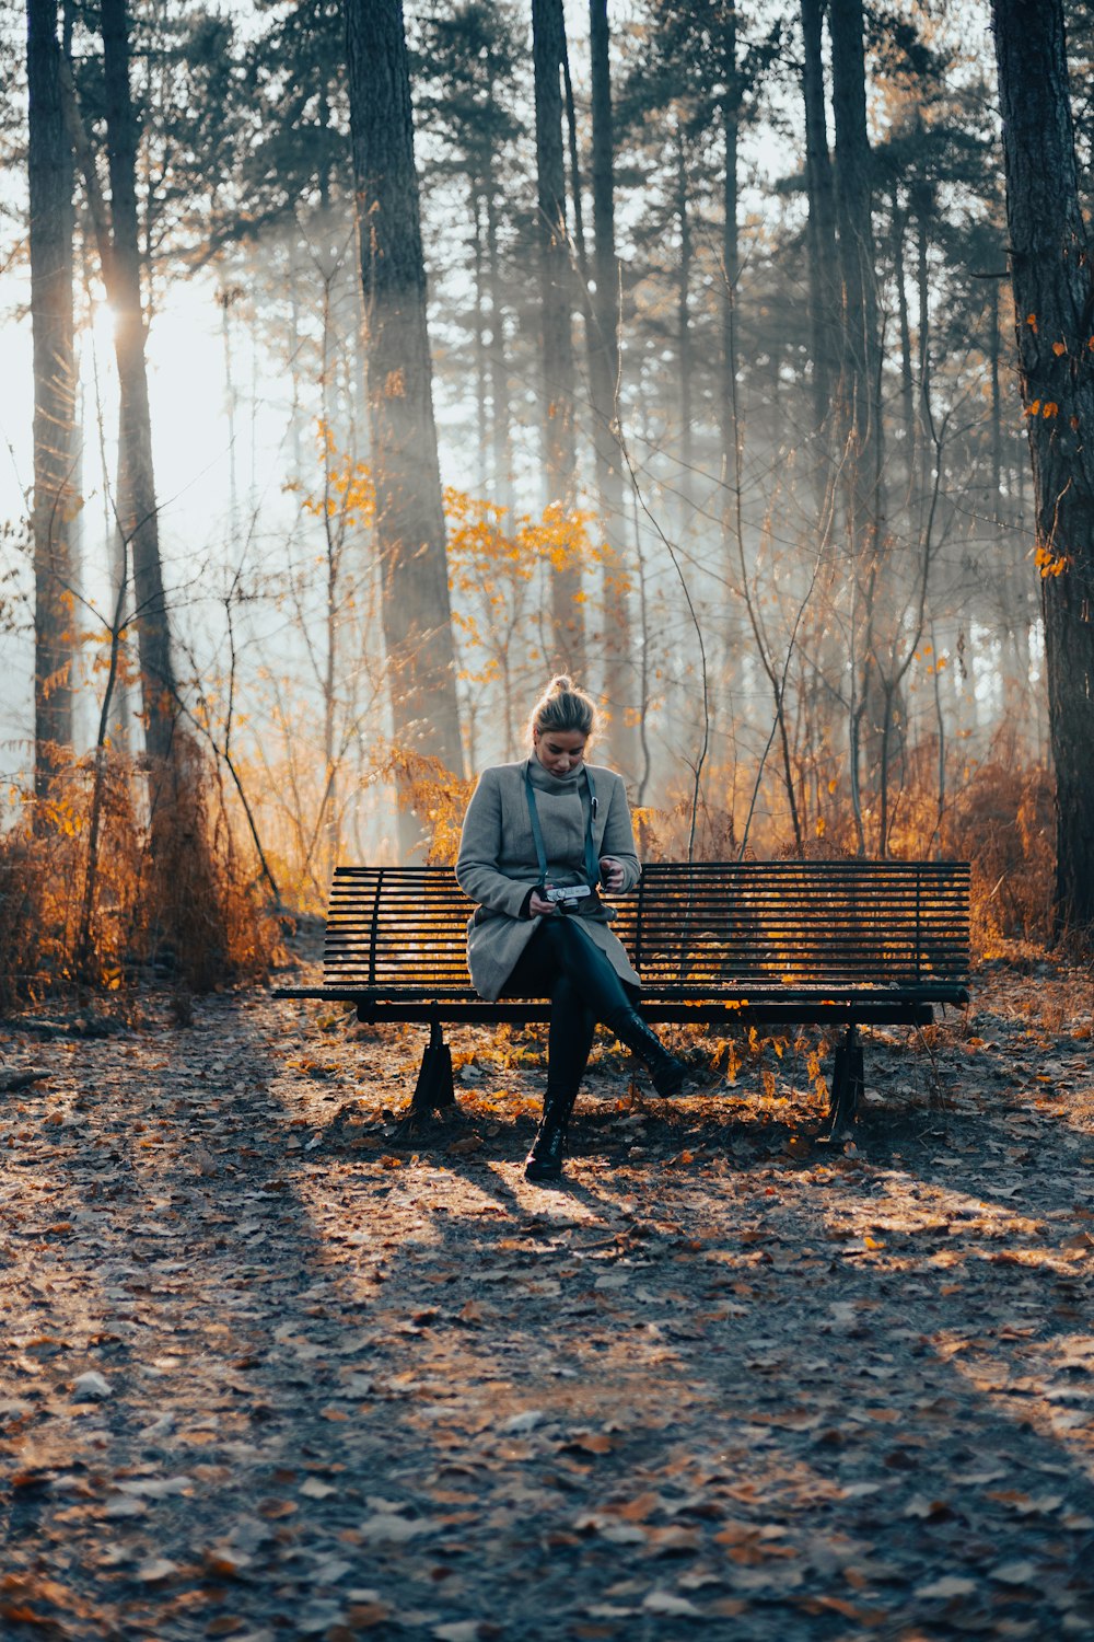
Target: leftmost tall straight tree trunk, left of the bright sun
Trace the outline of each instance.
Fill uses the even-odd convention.
[[[34,793],[72,747],[72,521],[77,452],[72,340],[72,144],[56,0],[28,0],[30,263],[34,356]],[[38,811],[36,811],[38,819]]]

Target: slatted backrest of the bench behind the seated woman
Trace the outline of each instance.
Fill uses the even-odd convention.
[[[968,979],[968,862],[654,862],[615,905],[659,992]],[[338,867],[325,984],[466,990],[471,911],[448,867]]]

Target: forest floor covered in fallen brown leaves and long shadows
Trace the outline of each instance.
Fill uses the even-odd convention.
[[[8,1023],[0,1634],[1094,1635],[1091,1002],[868,1034],[835,1151],[800,1048],[604,1044],[563,1189],[531,1033],[399,1149],[417,1030]]]

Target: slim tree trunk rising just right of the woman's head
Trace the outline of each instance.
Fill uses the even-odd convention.
[[[604,598],[604,695],[612,722],[609,745],[622,775],[638,773],[633,635],[630,576],[623,521],[618,414],[618,263],[615,259],[615,138],[612,125],[612,71],[609,59],[607,0],[589,0],[589,56],[592,77],[592,233],[595,296],[589,322],[589,383],[592,389],[592,438],[597,493],[607,542],[602,576]]]

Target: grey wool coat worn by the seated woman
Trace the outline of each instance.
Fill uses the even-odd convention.
[[[520,916],[528,890],[540,882],[525,790],[528,764],[528,759],[522,759],[520,764],[499,764],[482,772],[459,837],[456,880],[464,895],[479,903],[467,923],[467,967],[476,992],[490,1002],[500,997],[517,959],[543,921]],[[641,867],[623,778],[599,765],[592,765],[590,773],[597,798],[592,823],[597,860],[613,855],[623,867],[623,890],[630,890],[638,882]],[[548,864],[581,872],[586,847],[584,777],[556,780],[535,760],[533,780]],[[641,985],[623,943],[610,929],[615,916],[610,906],[597,905],[590,913],[551,916],[581,916],[582,929],[600,947],[617,975],[631,987]]]

